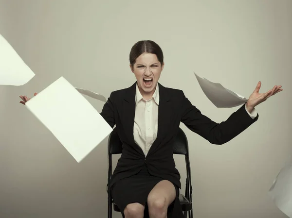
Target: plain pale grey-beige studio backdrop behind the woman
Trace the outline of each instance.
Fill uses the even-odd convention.
[[[291,0],[0,0],[0,34],[36,73],[24,86],[0,86],[1,218],[107,217],[107,139],[78,164],[18,96],[64,76],[109,97],[135,82],[129,51],[146,39],[164,51],[160,83],[214,121],[238,107],[216,108],[194,71],[246,98],[258,81],[261,92],[283,85],[256,107],[258,121],[222,146],[181,127],[195,218],[286,217],[268,190],[292,154]],[[101,111],[103,102],[87,99]],[[184,159],[175,161],[184,192]]]

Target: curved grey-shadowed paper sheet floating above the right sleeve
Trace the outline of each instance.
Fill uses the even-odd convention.
[[[223,87],[219,83],[213,83],[205,78],[201,78],[196,73],[195,76],[202,91],[216,107],[236,107],[247,101],[243,96]]]

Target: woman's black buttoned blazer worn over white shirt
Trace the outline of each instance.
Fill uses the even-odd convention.
[[[137,82],[136,82],[137,83]],[[173,159],[172,140],[183,122],[191,131],[212,144],[226,143],[258,119],[252,119],[242,105],[226,121],[216,123],[191,104],[182,90],[159,85],[158,133],[147,156],[135,143],[136,83],[114,91],[105,103],[101,115],[117,132],[123,143],[123,152],[111,177],[110,186],[117,180],[138,173],[145,165],[150,174],[166,179],[181,188],[180,174]]]

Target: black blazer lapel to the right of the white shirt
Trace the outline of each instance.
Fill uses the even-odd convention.
[[[167,134],[167,130],[169,128],[168,124],[171,119],[173,110],[170,107],[170,99],[171,96],[167,92],[167,89],[159,84],[159,106],[158,106],[158,131],[156,140],[153,142],[148,154],[151,154],[161,141],[164,139],[165,135]]]

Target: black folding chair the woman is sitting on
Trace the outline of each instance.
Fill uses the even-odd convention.
[[[110,184],[110,177],[112,175],[112,154],[122,153],[122,142],[120,141],[119,135],[114,129],[108,140],[108,184]],[[193,218],[193,205],[192,205],[192,184],[191,184],[191,168],[188,153],[188,141],[183,130],[180,128],[178,134],[175,137],[173,145],[174,154],[183,154],[185,157],[186,165],[186,186],[185,195],[180,194],[179,199],[183,208],[184,218],[189,215],[189,218]],[[111,189],[107,187],[108,191],[108,218],[112,217],[112,205],[116,212],[121,212],[119,207],[112,201]]]

